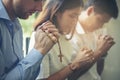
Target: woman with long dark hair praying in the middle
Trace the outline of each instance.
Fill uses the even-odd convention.
[[[68,40],[72,38],[82,7],[82,0],[48,0],[44,5],[43,11],[35,21],[35,28],[31,37],[29,50],[34,44],[35,31],[43,25],[47,32],[45,26],[53,23],[61,35],[59,40],[56,40],[58,44],[45,55],[41,64],[40,75],[37,78],[38,80],[46,78],[48,80],[65,80],[74,70],[80,69],[82,66],[93,61],[93,51],[88,48],[81,49],[76,58],[71,60],[71,53],[73,53],[72,45],[69,44]],[[70,34],[71,37],[66,37],[68,34]],[[51,35],[48,36],[50,37]],[[79,53],[83,53],[83,55],[79,55]]]

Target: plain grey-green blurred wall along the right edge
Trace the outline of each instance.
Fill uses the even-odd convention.
[[[117,0],[117,3],[120,11],[120,0]],[[120,13],[116,20],[112,19],[110,21],[107,30],[116,44],[110,49],[106,58],[102,77],[103,80],[120,80]]]

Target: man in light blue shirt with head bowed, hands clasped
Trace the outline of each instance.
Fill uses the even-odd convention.
[[[59,37],[58,30],[50,21],[46,22],[47,25],[37,30],[34,48],[24,58],[22,29],[17,18],[27,19],[41,10],[42,0],[0,0],[0,80],[35,80],[37,77],[43,56]]]

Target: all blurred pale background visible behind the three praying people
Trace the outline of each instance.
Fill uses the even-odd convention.
[[[120,11],[120,0],[117,0],[117,4],[119,6],[119,11]],[[33,14],[27,20],[20,20],[24,32],[24,47],[23,47],[25,53],[24,55],[26,55],[27,53],[26,48],[28,47],[28,42],[29,42],[29,39],[27,37],[30,37],[33,31],[32,25],[34,23],[34,20],[35,20],[35,14]],[[105,60],[105,67],[102,74],[102,79],[120,80],[120,12],[119,12],[119,17],[116,20],[111,19],[111,21],[105,26],[108,34],[114,38],[116,44],[108,52],[109,54]]]

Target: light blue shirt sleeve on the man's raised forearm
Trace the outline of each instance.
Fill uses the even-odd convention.
[[[6,75],[5,80],[35,80],[39,74],[42,59],[43,55],[33,48],[29,54]]]

